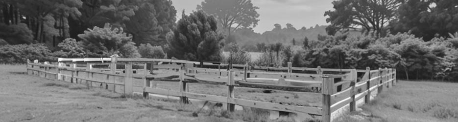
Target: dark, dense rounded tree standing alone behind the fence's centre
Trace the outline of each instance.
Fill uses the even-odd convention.
[[[223,36],[217,33],[217,21],[203,11],[178,20],[177,29],[169,35],[169,56],[191,61],[220,61]]]

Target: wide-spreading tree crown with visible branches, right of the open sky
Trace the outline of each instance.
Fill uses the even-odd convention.
[[[395,11],[403,0],[335,0],[334,11],[326,11],[326,28],[329,35],[336,30],[363,28],[366,32],[375,32],[376,36],[384,32],[384,27],[393,19]]]

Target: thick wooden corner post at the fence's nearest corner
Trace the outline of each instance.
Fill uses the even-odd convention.
[[[327,76],[321,76],[321,78],[323,78],[321,82],[321,94],[323,96],[321,121],[331,122],[331,94],[333,92],[334,78]]]

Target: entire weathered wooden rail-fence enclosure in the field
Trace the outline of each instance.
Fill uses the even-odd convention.
[[[189,99],[219,102],[227,110],[235,105],[321,116],[331,122],[346,111],[368,103],[384,88],[396,83],[396,70],[379,68],[329,69],[292,67],[261,67],[247,64],[221,64],[166,59],[84,58],[62,59],[50,64],[27,61],[27,74],[85,84],[133,95],[175,96],[180,102]],[[159,86],[171,82],[168,86]],[[222,85],[225,95],[190,92],[193,85]],[[177,87],[171,90],[164,87]],[[161,88],[162,87],[162,88]],[[321,106],[289,105],[235,97],[237,87],[318,94]],[[227,91],[227,92],[226,92]]]

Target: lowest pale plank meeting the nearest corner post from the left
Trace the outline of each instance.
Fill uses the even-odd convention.
[[[244,100],[244,99],[238,99],[238,98],[231,98],[229,99],[229,102],[238,104],[241,106],[262,108],[262,109],[275,110],[275,111],[321,115],[320,107],[286,105],[286,104],[279,104],[279,103],[272,103],[272,102],[250,101],[250,100]]]

